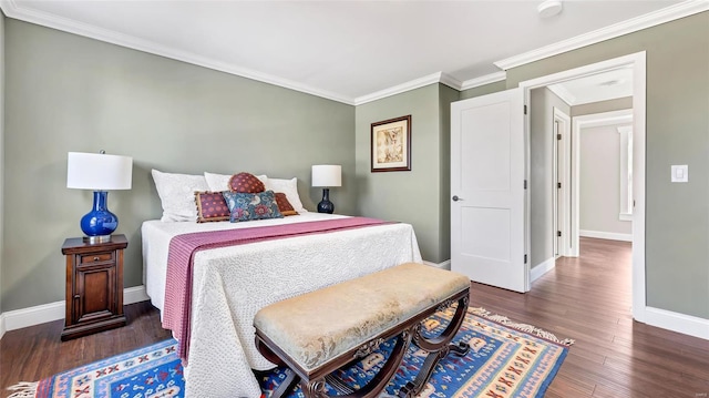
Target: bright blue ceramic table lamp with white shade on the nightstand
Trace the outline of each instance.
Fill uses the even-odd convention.
[[[93,208],[81,218],[84,241],[90,244],[111,241],[119,217],[109,211],[110,190],[130,190],[133,157],[101,153],[69,152],[66,187],[93,191]]]

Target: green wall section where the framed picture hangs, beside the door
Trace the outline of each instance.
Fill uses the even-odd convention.
[[[442,89],[443,88],[443,89]],[[450,102],[458,93],[442,84],[357,106],[358,213],[413,225],[423,259],[450,258]],[[411,115],[411,171],[371,172],[371,123]],[[445,218],[445,220],[444,220]]]

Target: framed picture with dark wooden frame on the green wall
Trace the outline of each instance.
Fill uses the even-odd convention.
[[[411,115],[372,123],[372,173],[411,170]]]

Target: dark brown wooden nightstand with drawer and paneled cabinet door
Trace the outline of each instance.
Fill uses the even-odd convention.
[[[89,244],[81,237],[64,241],[66,256],[66,317],[62,340],[121,327],[123,315],[123,249],[125,235]]]

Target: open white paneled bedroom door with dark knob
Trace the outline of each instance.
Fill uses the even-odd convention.
[[[522,89],[451,104],[451,269],[526,292]]]

